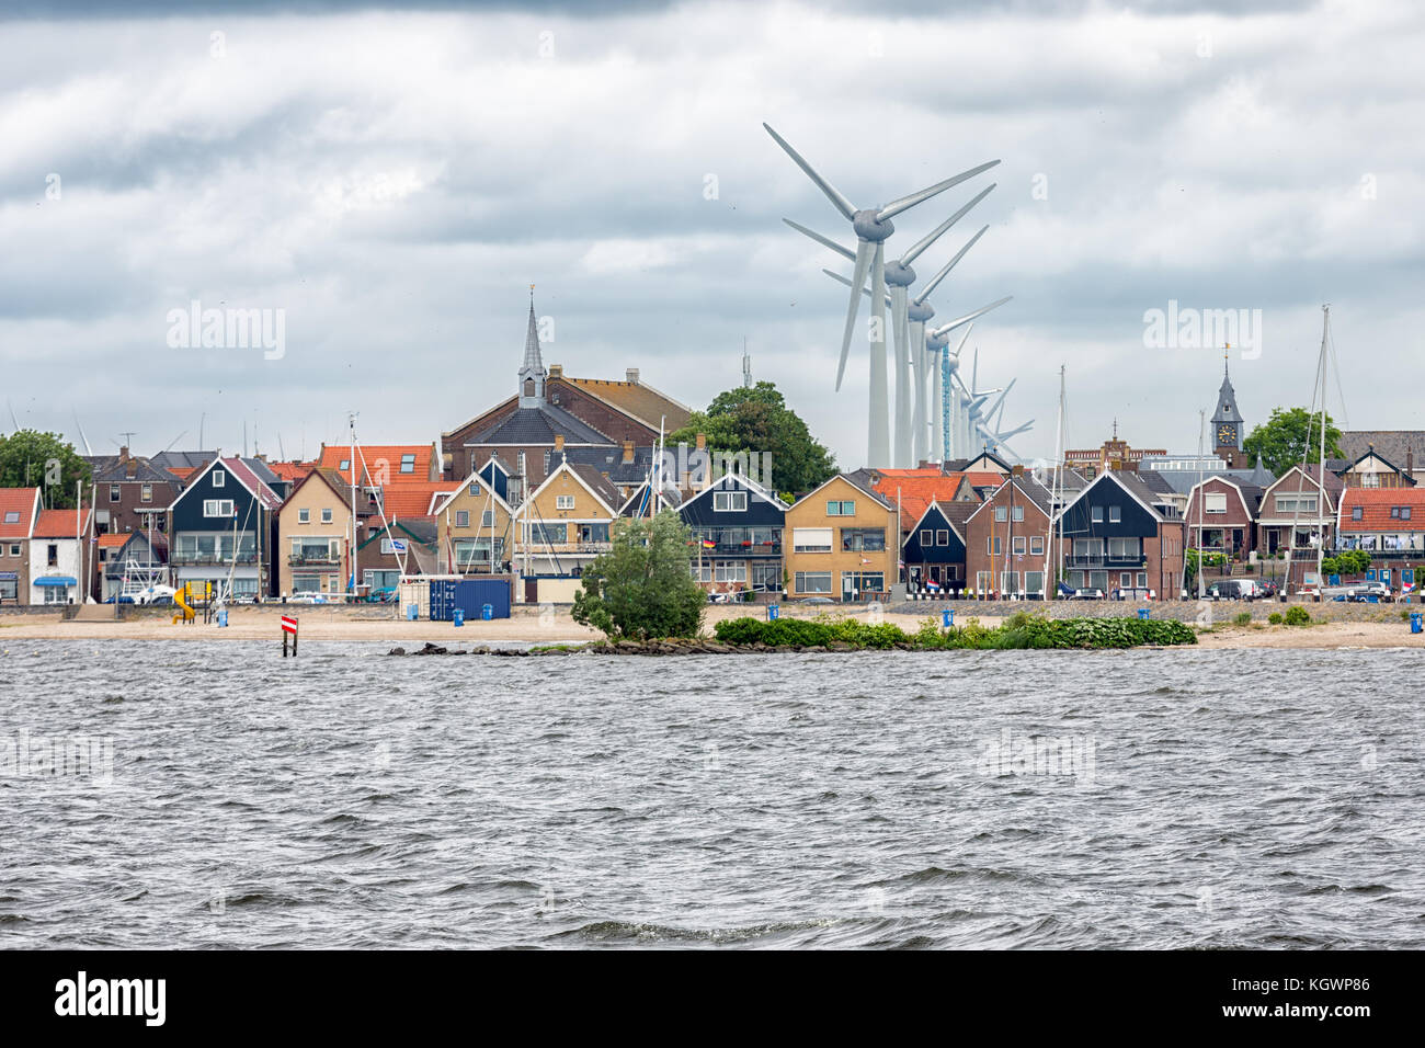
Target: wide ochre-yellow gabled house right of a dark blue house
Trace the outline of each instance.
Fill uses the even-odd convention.
[[[787,510],[788,597],[882,600],[899,579],[895,506],[845,473]]]

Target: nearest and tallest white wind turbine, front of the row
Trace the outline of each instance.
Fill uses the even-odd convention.
[[[856,327],[856,311],[861,305],[861,288],[865,287],[866,274],[871,275],[871,404],[869,404],[869,435],[866,441],[866,456],[869,466],[884,466],[891,458],[889,448],[889,405],[886,391],[886,344],[885,344],[885,299],[886,271],[885,271],[885,241],[895,232],[891,220],[916,204],[922,204],[936,194],[945,192],[953,185],[959,185],[968,178],[973,178],[982,171],[988,171],[999,161],[972,167],[958,175],[946,178],[943,183],[926,187],[919,192],[901,197],[889,204],[874,208],[856,208],[831,183],[822,178],[817,170],[807,163],[797,150],[788,144],[770,124],[762,124],[767,134],[772,137],[788,157],[799,167],[812,183],[817,184],[826,198],[835,205],[841,215],[851,222],[856,234],[855,272],[852,277],[851,298],[846,305],[846,327],[841,337],[841,358],[836,364],[836,389],[841,389],[841,379],[846,371],[846,356],[851,354],[851,337]],[[922,248],[923,250],[923,248]],[[878,322],[879,321],[879,322]],[[899,372],[898,372],[899,374]]]

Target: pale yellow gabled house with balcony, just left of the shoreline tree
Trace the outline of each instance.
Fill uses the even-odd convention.
[[[574,576],[610,549],[618,489],[593,466],[567,459],[514,510],[517,567],[526,576]]]

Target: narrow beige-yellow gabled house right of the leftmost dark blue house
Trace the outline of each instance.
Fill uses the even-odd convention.
[[[351,488],[336,471],[314,469],[276,515],[279,590],[345,599],[351,533]]]

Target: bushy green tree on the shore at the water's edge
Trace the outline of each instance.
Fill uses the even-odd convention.
[[[673,510],[653,520],[617,520],[613,549],[584,569],[574,622],[607,637],[694,637],[707,596],[690,570],[693,532]]]

